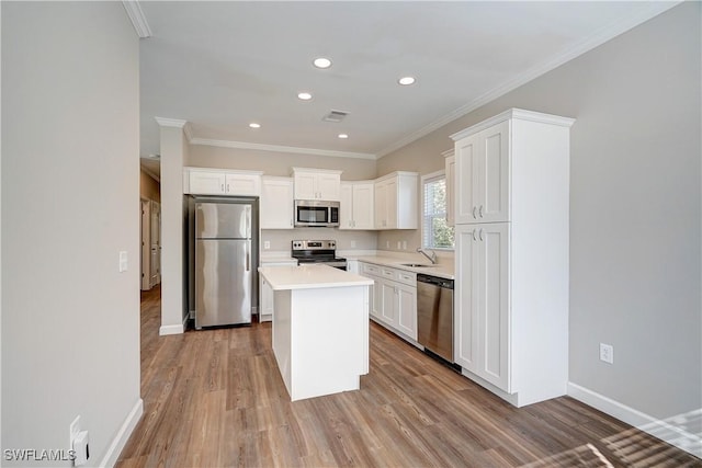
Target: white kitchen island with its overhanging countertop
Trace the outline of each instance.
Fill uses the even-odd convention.
[[[262,266],[273,353],[292,401],[360,388],[369,373],[372,279],[322,264]]]

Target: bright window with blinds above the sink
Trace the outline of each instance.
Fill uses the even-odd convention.
[[[421,244],[427,249],[453,249],[453,227],[446,225],[446,176],[443,171],[422,176]]]

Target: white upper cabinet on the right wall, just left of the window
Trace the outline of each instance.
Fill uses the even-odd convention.
[[[419,174],[393,172],[375,181],[375,228],[417,229]]]

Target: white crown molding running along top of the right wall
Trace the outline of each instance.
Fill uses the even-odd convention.
[[[536,65],[535,67],[530,68],[523,73],[518,75],[511,80],[507,80],[499,84],[496,88],[480,94],[476,99],[471,102],[462,105],[461,107],[450,112],[449,114],[440,117],[439,119],[430,123],[429,125],[419,128],[416,132],[400,138],[394,144],[385,147],[381,151],[377,152],[377,158],[383,158],[384,156],[389,155],[393,151],[396,151],[404,146],[409,145],[412,141],[418,140],[419,138],[429,135],[430,133],[443,127],[444,125],[455,121],[456,118],[463,117],[464,115],[475,111],[476,109],[495,101],[496,99],[507,94],[508,92],[521,87],[522,84],[526,84],[531,80],[539,78],[546,72],[556,69],[563,64],[573,60],[574,58],[592,50],[593,48],[604,44],[608,41],[613,39],[614,37],[632,30],[645,21],[650,20],[654,16],[659,15],[673,7],[682,3],[681,1],[665,1],[665,2],[649,2],[645,10],[639,12],[638,14],[632,15],[630,18],[625,18],[622,21],[609,24],[602,27],[599,32],[591,35],[590,37],[585,38],[580,43],[578,43],[575,47],[571,47],[565,50],[563,54],[552,58],[551,60],[544,61],[542,64]]]

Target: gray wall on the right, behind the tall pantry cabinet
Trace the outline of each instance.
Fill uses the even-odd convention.
[[[676,7],[378,161],[378,174],[438,168],[449,135],[509,107],[577,118],[570,381],[661,419],[702,408],[700,9]]]

